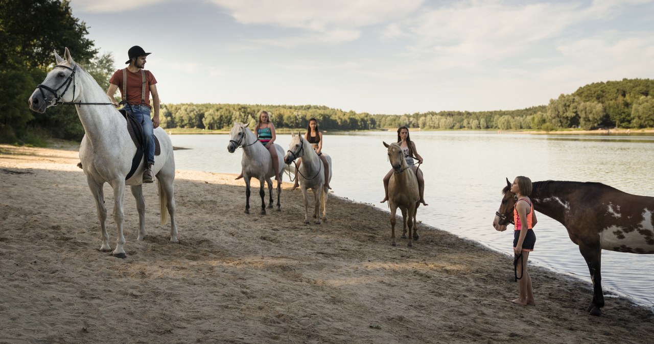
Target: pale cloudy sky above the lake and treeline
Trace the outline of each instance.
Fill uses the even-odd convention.
[[[151,52],[145,69],[169,104],[515,110],[593,82],[654,77],[654,0],[70,5],[116,69],[126,67],[133,45]]]

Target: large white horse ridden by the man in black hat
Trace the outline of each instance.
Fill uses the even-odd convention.
[[[114,190],[114,221],[118,228],[118,239],[113,255],[124,258],[125,237],[123,236],[123,202],[125,186],[131,187],[139,211],[139,237],[145,238],[145,200],[143,199],[143,168],[141,161],[136,172],[125,180],[131,169],[131,160],[136,153],[136,146],[129,136],[125,118],[109,102],[107,94],[95,82],[94,78],[73,61],[68,48],[65,59],[54,53],[57,65],[54,66],[41,85],[29,97],[29,108],[36,112],[45,112],[46,108],[59,103],[75,104],[77,114],[84,127],[84,138],[80,144],[80,160],[86,174],[88,187],[91,189],[97,217],[102,230],[101,251],[111,251],[109,234],[105,222],[107,208],[103,195],[104,183],[109,183]],[[60,90],[63,91],[60,92]],[[161,204],[161,224],[165,225],[166,210],[170,214],[170,241],[177,242],[177,225],[175,224],[175,198],[173,181],[175,180],[175,159],[173,144],[161,128],[154,129],[160,146],[161,155],[154,157],[152,172],[156,175]]]

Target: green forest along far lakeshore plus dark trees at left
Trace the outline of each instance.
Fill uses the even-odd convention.
[[[58,35],[44,35],[46,31]],[[75,108],[56,106],[46,114],[29,110],[27,99],[54,66],[52,52],[68,47],[75,60],[107,89],[114,72],[111,54],[99,54],[86,23],[73,16],[69,1],[0,0],[0,143],[43,145],[48,138],[81,140],[84,128]],[[61,54],[62,52],[60,52]],[[320,105],[162,104],[165,129],[228,130],[234,121],[252,122],[267,110],[277,128],[303,129],[310,118],[321,129],[365,131],[533,130],[654,127],[654,80],[596,82],[561,94],[547,104],[520,110],[439,111],[404,115],[369,114]]]

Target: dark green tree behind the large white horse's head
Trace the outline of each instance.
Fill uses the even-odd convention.
[[[97,54],[86,35],[86,24],[73,17],[68,1],[0,0],[0,140],[12,142],[41,132],[82,137],[75,108],[58,106],[37,114],[26,102],[54,65],[54,50],[63,54],[69,48],[82,65]]]

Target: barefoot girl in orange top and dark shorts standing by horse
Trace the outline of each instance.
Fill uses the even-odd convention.
[[[518,278],[517,272],[521,272],[521,277],[518,279],[518,298],[511,302],[519,305],[536,305],[531,277],[527,271],[527,259],[529,253],[534,251],[536,243],[536,234],[532,228],[536,226],[537,222],[534,204],[529,198],[532,192],[531,180],[525,176],[516,177],[511,184],[511,192],[515,193],[517,197],[515,206],[513,206],[513,223],[515,223],[513,253],[515,254],[516,278]]]

